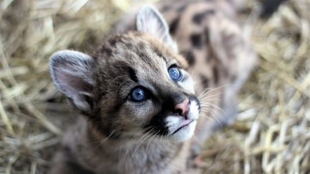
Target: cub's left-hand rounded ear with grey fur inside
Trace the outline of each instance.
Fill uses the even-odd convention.
[[[94,60],[81,52],[63,50],[50,57],[50,74],[59,91],[81,111],[89,111],[94,87]]]

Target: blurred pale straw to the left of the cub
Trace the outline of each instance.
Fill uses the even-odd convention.
[[[45,173],[70,111],[52,84],[49,56],[92,52],[128,7],[121,0],[0,2],[0,173]]]

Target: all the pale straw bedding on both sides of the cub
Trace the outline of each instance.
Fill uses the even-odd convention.
[[[132,1],[0,2],[0,173],[45,173],[72,117],[48,73],[56,50],[92,52]],[[205,173],[310,172],[310,2],[270,19],[249,1],[247,31],[260,56],[240,94],[238,121],[208,140]]]

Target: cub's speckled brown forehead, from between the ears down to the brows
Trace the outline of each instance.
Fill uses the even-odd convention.
[[[133,80],[161,77],[167,74],[167,68],[171,65],[187,67],[185,58],[170,50],[167,45],[138,32],[112,37],[95,57],[100,76],[105,74],[103,78],[120,78],[121,81],[128,77]]]

